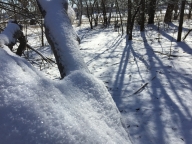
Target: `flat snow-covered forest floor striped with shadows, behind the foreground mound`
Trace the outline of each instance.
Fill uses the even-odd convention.
[[[183,36],[190,25],[185,22]],[[148,25],[144,32],[135,27],[133,40],[128,41],[112,26],[75,29],[84,60],[108,88],[132,143],[192,143],[192,34],[177,42],[176,24],[166,28],[162,24],[159,31]],[[54,59],[48,46],[38,50]],[[57,66],[37,62],[38,57],[30,53],[32,64],[58,80]]]

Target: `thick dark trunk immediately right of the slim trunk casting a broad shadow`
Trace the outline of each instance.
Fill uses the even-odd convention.
[[[156,9],[156,0],[150,0],[148,6],[148,24],[154,24],[154,17],[155,17],[155,9]]]

